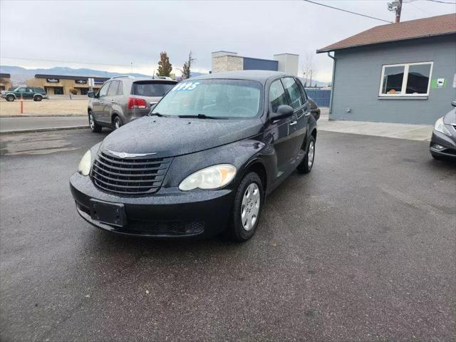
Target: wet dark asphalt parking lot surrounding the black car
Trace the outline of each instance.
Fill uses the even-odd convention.
[[[1,341],[456,340],[456,165],[428,142],[318,133],[234,244],[84,222],[68,177],[104,136],[0,137]]]

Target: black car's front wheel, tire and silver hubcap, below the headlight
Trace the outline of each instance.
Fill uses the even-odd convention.
[[[234,197],[234,207],[229,225],[232,239],[243,242],[254,236],[257,231],[264,191],[260,177],[249,172],[242,179]]]

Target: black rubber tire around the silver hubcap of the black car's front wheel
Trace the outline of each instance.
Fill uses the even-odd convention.
[[[251,225],[251,227],[247,230],[246,228],[244,228],[244,223],[242,222],[242,212],[243,210],[245,210],[246,215],[248,215],[247,208],[243,207],[242,202],[244,199],[244,195],[247,193],[247,189],[250,189],[249,187],[251,185],[253,185],[254,188],[256,187],[256,189],[259,192],[259,197],[257,197],[257,199],[255,199],[255,197],[251,197],[252,203],[251,205],[249,204],[248,207],[250,209],[253,209],[255,207],[256,201],[258,200],[259,208],[254,224]],[[247,175],[244,176],[244,178],[240,182],[239,187],[237,188],[236,195],[234,196],[232,217],[229,223],[229,227],[227,229],[227,233],[231,239],[237,242],[244,242],[254,236],[255,232],[257,231],[259,219],[261,217],[261,209],[263,207],[263,203],[263,183],[261,182],[261,179],[259,175],[257,175],[257,173],[249,172]],[[251,223],[252,221],[249,222]]]

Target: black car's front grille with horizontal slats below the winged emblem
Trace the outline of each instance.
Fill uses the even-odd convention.
[[[101,190],[146,195],[160,189],[170,162],[170,158],[120,158],[98,152],[90,175],[93,184]]]

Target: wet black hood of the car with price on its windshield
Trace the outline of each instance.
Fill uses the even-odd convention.
[[[110,133],[102,149],[175,157],[250,138],[261,133],[260,118],[214,120],[145,116]]]

